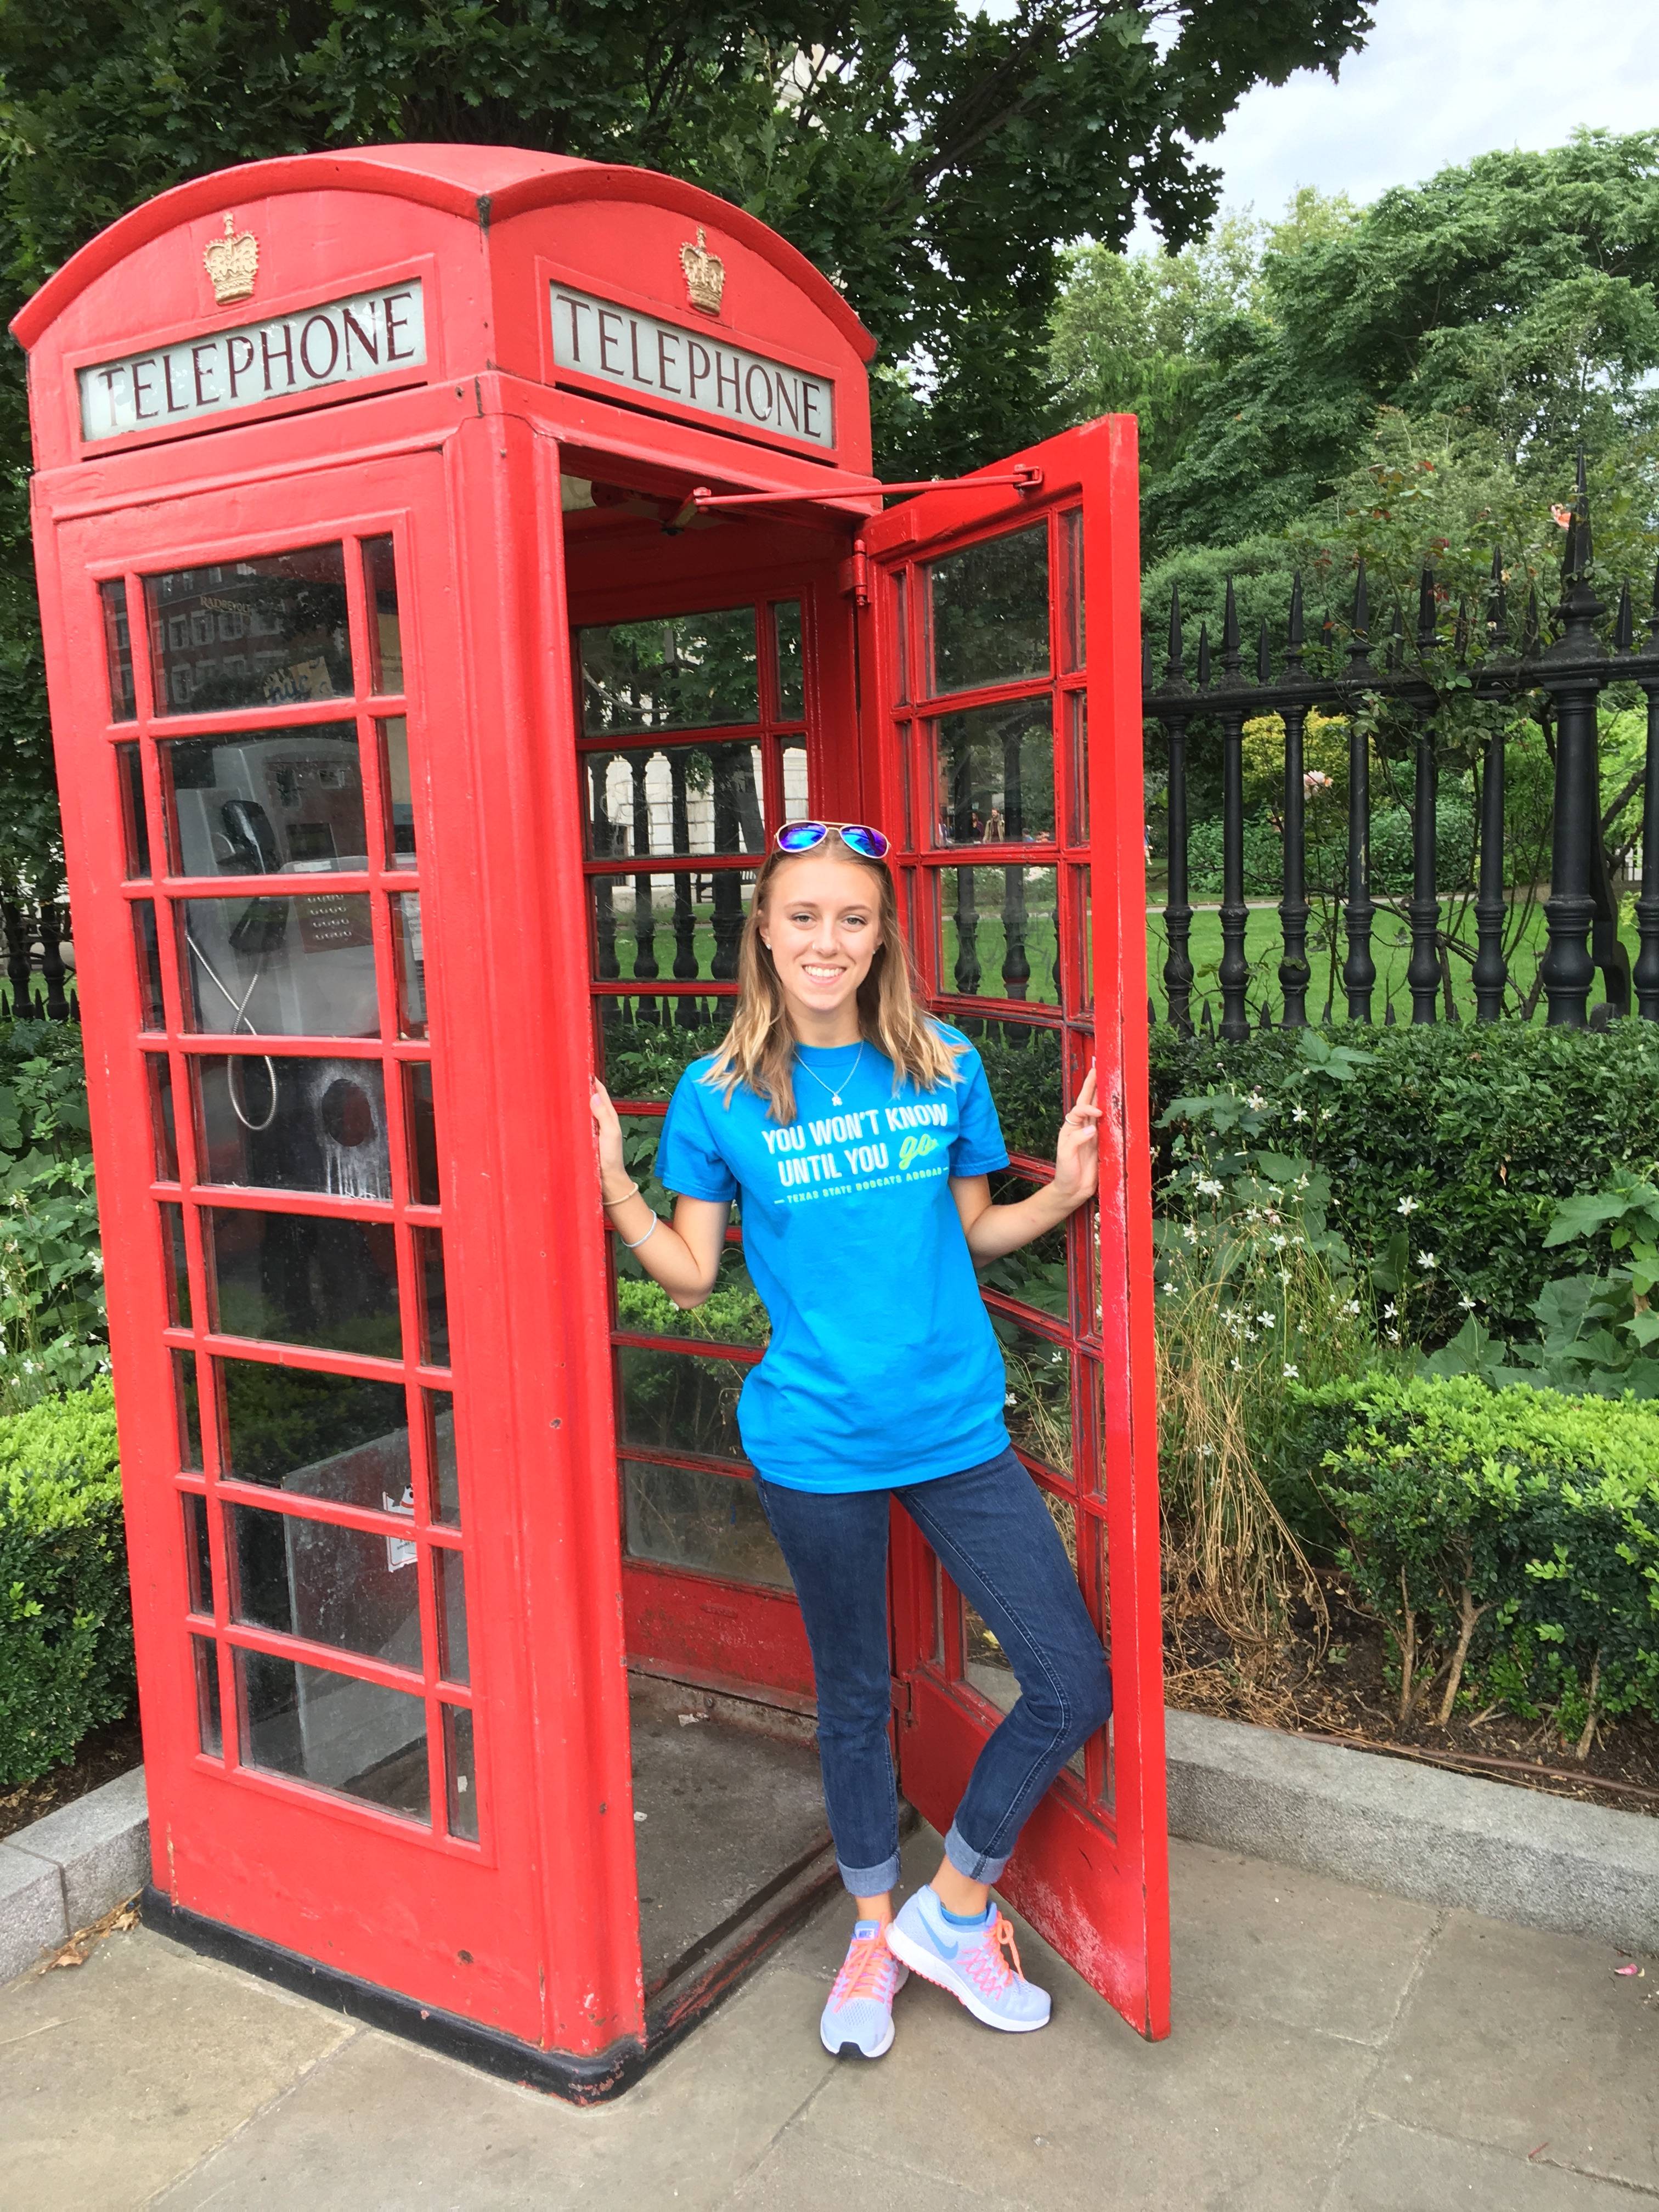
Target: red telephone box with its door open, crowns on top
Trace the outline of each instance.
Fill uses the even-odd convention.
[[[883,513],[823,276],[686,184],[507,148],[201,177],[13,330],[150,1920],[599,2097],[832,1880],[821,1812],[772,1834],[719,1767],[732,1714],[799,1736],[812,1699],[732,1420],[741,1228],[710,1307],[653,1298],[586,1091],[648,1168],[772,827],[872,816],[1011,1188],[1099,1064],[1099,1206],[987,1298],[1117,1717],[1004,1889],[1164,2035],[1133,422]],[[900,1520],[936,1823],[1009,1697]],[[745,1820],[666,1931],[664,1847],[695,1876]]]

